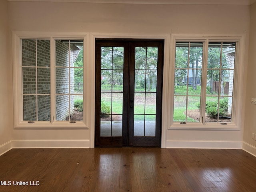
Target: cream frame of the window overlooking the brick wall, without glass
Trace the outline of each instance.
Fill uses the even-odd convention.
[[[22,39],[50,40],[50,87],[51,87],[51,120],[50,121],[29,121],[23,120],[22,101]],[[83,40],[84,42],[84,84],[83,98],[84,106],[88,103],[88,86],[86,85],[86,73],[88,73],[88,34],[87,33],[59,33],[59,32],[12,32],[12,62],[13,62],[13,84],[14,84],[14,128],[57,128],[57,129],[84,129],[88,128],[88,109],[84,107],[82,121],[56,121],[52,120],[52,114],[56,112],[55,105],[55,40]],[[53,98],[53,99],[52,99]],[[55,115],[54,115],[55,116]],[[75,123],[70,123],[75,122]]]

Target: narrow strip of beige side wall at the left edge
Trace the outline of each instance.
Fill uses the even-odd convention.
[[[10,149],[13,127],[12,63],[8,60],[8,4],[0,1],[0,154]]]

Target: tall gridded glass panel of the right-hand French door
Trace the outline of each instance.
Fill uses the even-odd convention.
[[[157,57],[158,48],[135,48],[134,136],[156,136]]]

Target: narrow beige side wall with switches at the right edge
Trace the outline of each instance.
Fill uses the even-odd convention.
[[[256,3],[251,5],[250,18],[250,43],[248,57],[248,75],[246,86],[246,112],[244,123],[244,148],[256,154],[256,140],[252,139],[252,133],[256,134],[256,105],[251,104],[251,98],[256,98]]]

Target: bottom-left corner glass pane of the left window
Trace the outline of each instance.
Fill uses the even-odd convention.
[[[36,95],[23,95],[23,120],[36,121]]]

